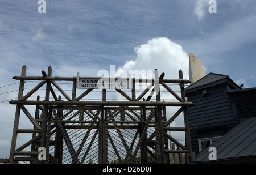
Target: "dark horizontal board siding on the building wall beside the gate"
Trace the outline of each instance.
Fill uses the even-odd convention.
[[[195,103],[189,107],[189,127],[191,128],[192,150],[199,152],[198,139],[222,136],[235,126],[226,85],[205,88],[187,94],[188,101]]]

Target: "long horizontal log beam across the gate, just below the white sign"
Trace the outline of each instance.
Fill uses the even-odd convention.
[[[76,105],[76,106],[192,106],[192,102],[163,102],[163,101],[20,101],[11,100],[16,105]]]

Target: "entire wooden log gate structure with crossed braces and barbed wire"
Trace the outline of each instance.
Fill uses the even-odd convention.
[[[158,71],[156,71],[158,72]],[[11,140],[9,163],[170,163],[170,153],[185,153],[187,163],[192,163],[190,131],[188,126],[187,107],[193,105],[185,100],[183,79],[179,71],[179,79],[163,79],[164,73],[151,79],[149,86],[141,91],[139,96],[135,84],[142,79],[133,78],[133,88],[129,92],[122,89],[112,89],[118,95],[125,97],[124,101],[107,101],[106,92],[109,89],[97,89],[102,93],[101,101],[86,100],[85,97],[94,89],[77,91],[77,77],[52,77],[52,69],[43,76],[26,76],[26,65],[22,67],[18,99],[10,101],[16,105],[13,137]],[[92,79],[92,78],[85,78]],[[99,79],[99,78],[93,78]],[[39,82],[26,95],[23,95],[26,81]],[[60,82],[57,84],[56,82]],[[61,82],[72,84],[71,95],[63,90]],[[181,97],[167,84],[176,83],[180,86]],[[46,84],[46,86],[44,86]],[[177,101],[161,101],[159,85],[171,93]],[[31,96],[42,87],[45,89],[43,100],[30,100]],[[151,97],[155,93],[156,100]],[[41,89],[42,90],[42,89]],[[94,91],[93,91],[94,90]],[[41,91],[42,92],[42,91]],[[57,93],[63,95],[57,97]],[[144,96],[148,93],[147,98]],[[80,93],[80,94],[78,94]],[[71,96],[71,97],[69,97]],[[50,100],[51,98],[51,100]],[[52,100],[53,99],[53,100]],[[179,106],[179,110],[167,119],[166,109]],[[34,111],[34,117],[29,109]],[[183,113],[183,127],[169,127],[177,116]],[[20,129],[21,114],[30,120],[32,127]],[[181,114],[182,115],[182,114]],[[168,134],[167,131],[184,131],[185,146]],[[30,133],[31,139],[16,146],[20,134]],[[175,143],[180,149],[172,150],[168,143]],[[39,148],[45,148],[45,155]],[[40,161],[39,161],[40,159]]]

